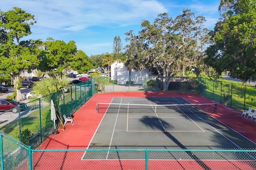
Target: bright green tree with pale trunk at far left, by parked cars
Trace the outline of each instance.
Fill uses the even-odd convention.
[[[0,11],[0,72],[10,74],[14,81],[16,100],[22,100],[20,93],[19,74],[25,69],[31,70],[38,67],[38,55],[41,50],[36,41],[21,41],[21,38],[31,34],[30,26],[36,23],[34,15],[21,8]],[[16,40],[16,41],[15,41]]]

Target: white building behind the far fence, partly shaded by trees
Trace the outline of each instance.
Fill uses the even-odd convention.
[[[130,81],[132,84],[143,84],[144,78],[149,76],[148,69],[143,69],[141,74],[139,71],[132,69],[128,70],[128,67],[124,66],[124,63],[115,61],[111,64],[111,79],[116,80],[118,85],[125,85]]]

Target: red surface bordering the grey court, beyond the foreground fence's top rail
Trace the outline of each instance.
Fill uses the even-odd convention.
[[[86,149],[104,115],[104,113],[96,113],[96,103],[110,103],[113,97],[183,97],[193,104],[213,102],[200,95],[180,92],[112,92],[96,94],[74,113],[74,126],[69,122],[65,125],[66,129],[64,131],[60,127],[58,129],[60,133],[49,136],[39,148]],[[210,115],[256,143],[256,122],[254,120],[241,117],[239,111],[221,104],[218,104],[218,113],[211,113]]]

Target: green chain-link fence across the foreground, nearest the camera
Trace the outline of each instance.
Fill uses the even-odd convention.
[[[0,131],[2,170],[256,169],[254,149],[31,149]]]

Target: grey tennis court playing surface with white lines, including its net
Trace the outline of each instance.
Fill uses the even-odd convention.
[[[216,113],[216,103],[193,105],[182,97],[113,97],[111,103],[97,103],[104,113],[88,149],[241,149],[255,143],[208,113]],[[213,155],[215,154],[215,155]],[[235,155],[166,152],[150,159],[235,160]],[[248,155],[255,159],[256,156]],[[85,152],[82,160],[129,160],[127,152]],[[137,153],[132,159],[144,159]]]

